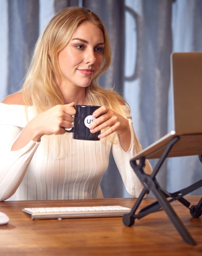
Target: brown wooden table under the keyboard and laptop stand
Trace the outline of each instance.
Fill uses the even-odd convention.
[[[200,197],[187,197],[196,204]],[[136,219],[125,227],[122,217],[31,220],[24,207],[123,205],[136,199],[91,199],[53,201],[5,201],[0,211],[10,221],[0,226],[0,255],[202,255],[202,217],[192,218],[189,209],[175,201],[172,206],[197,245],[184,243],[167,215],[161,211]],[[144,199],[140,207],[155,201]]]

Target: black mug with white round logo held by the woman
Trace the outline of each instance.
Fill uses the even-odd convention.
[[[76,109],[74,126],[71,130],[66,129],[66,132],[73,132],[74,139],[99,140],[97,136],[100,134],[100,131],[91,133],[89,129],[89,125],[95,120],[92,114],[99,106],[75,105],[74,108]]]

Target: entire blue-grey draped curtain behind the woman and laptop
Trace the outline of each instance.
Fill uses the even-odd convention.
[[[0,1],[0,98],[20,88],[32,49],[59,10],[84,6],[107,26],[112,64],[99,83],[114,87],[131,106],[134,128],[145,148],[167,133],[171,120],[170,54],[202,52],[200,0],[4,0]],[[151,160],[155,166],[156,160]],[[197,156],[165,161],[160,184],[175,191],[201,179]],[[128,197],[111,157],[102,188],[105,197]],[[202,194],[202,188],[194,191]]]

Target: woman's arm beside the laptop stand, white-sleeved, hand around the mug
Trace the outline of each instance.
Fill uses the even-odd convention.
[[[97,119],[91,123],[89,128],[91,132],[97,132],[108,127],[106,131],[100,134],[100,138],[115,132],[115,142],[112,145],[114,161],[120,171],[126,190],[133,197],[138,197],[143,185],[130,166],[130,159],[139,153],[142,147],[133,129],[130,109],[127,106],[123,106],[123,108],[125,117],[115,113],[106,106],[98,108],[93,113]],[[146,161],[145,172],[148,174],[152,172],[148,161]]]

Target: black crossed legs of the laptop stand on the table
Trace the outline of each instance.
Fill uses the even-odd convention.
[[[173,225],[175,226],[175,228],[177,229],[179,234],[182,236],[184,241],[190,245],[196,245],[196,242],[194,241],[194,239],[192,238],[192,236],[190,235],[190,233],[188,232],[186,227],[184,227],[180,218],[177,216],[177,214],[173,210],[172,206],[170,205],[170,202],[167,201],[167,197],[171,197],[172,198],[171,201],[176,200],[174,194],[172,197],[172,194],[168,193],[167,191],[164,191],[159,186],[159,184],[155,178],[156,174],[158,173],[160,167],[162,166],[165,158],[169,154],[171,148],[178,140],[179,140],[179,137],[176,136],[167,144],[164,152],[162,153],[162,155],[161,155],[161,157],[151,175],[146,174],[143,170],[143,166],[145,163],[144,157],[140,158],[139,165],[137,164],[136,160],[130,162],[134,172],[136,172],[138,178],[144,185],[144,189],[142,190],[140,197],[137,199],[136,203],[132,207],[130,214],[125,214],[123,216],[123,222],[124,222],[124,225],[126,225],[126,226],[132,226],[135,218],[141,218],[151,212],[155,212],[155,210],[158,211],[160,209],[160,207],[162,207],[162,209],[166,212],[167,216],[171,219]],[[200,161],[202,162],[202,157],[201,157]],[[194,186],[192,185],[191,187],[193,188]],[[138,206],[140,205],[144,195],[149,190],[151,190],[154,193],[155,197],[157,198],[157,202],[145,207],[138,214],[135,215],[134,213],[138,209]],[[186,192],[187,190],[184,190],[184,191]],[[183,200],[182,196],[180,196],[180,195],[177,195],[177,200],[179,200],[181,203],[183,203],[186,206],[189,204],[189,202],[186,202],[186,200]],[[202,204],[202,198],[201,198],[200,203]]]

